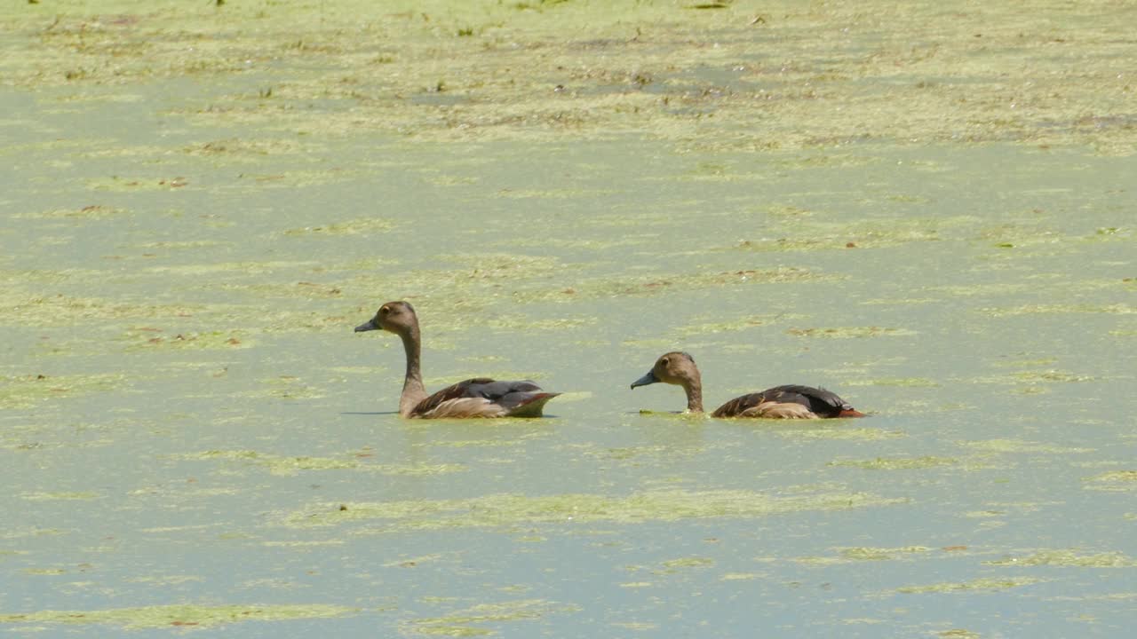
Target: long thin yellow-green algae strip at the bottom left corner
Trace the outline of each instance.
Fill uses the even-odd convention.
[[[106,611],[40,611],[0,614],[0,623],[107,624],[126,630],[169,626],[215,626],[243,621],[289,621],[329,619],[358,612],[358,608],[310,605],[276,606],[148,606]]]

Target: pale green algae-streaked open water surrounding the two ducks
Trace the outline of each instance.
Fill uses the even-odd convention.
[[[184,115],[233,83],[5,90],[3,630],[1131,629],[1134,156]],[[398,340],[351,331],[390,299],[431,389],[565,395],[398,418]],[[673,414],[628,388],[671,349],[708,407],[810,383],[871,416]]]

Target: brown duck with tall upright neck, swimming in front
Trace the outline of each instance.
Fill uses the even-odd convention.
[[[422,340],[418,316],[406,301],[389,301],[356,332],[388,331],[399,335],[407,354],[407,372],[399,397],[399,415],[408,418],[540,417],[545,404],[558,392],[543,392],[529,380],[501,382],[474,377],[447,387],[431,396],[423,387]]]

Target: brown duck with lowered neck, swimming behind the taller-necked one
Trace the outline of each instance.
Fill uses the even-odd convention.
[[[703,412],[703,380],[690,355],[678,350],[662,355],[646,375],[632,382],[632,390],[656,382],[683,387],[687,410]],[[736,397],[716,408],[711,416],[819,420],[865,415],[825,389],[788,384]]]

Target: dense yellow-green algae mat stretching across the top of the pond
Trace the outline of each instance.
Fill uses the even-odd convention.
[[[1047,146],[1079,139],[1124,152],[1132,134],[1131,119],[1109,108],[1134,91],[1118,73],[1128,44],[1117,38],[1131,15],[1107,3],[1031,14],[780,2],[724,3],[721,11],[619,2],[597,11],[586,2],[437,0],[376,13],[356,2],[231,2],[179,10],[173,34],[172,14],[121,5],[127,13],[114,6],[99,15],[9,11],[14,26],[38,33],[50,52],[36,64],[5,65],[11,82],[114,86],[243,75],[243,86],[189,114],[307,134],[317,132],[305,113],[314,102],[324,111],[319,133],[364,127],[445,140],[649,133],[699,150],[883,138]],[[306,14],[315,19],[298,28]],[[587,31],[566,34],[568,25]],[[823,35],[832,25],[845,25],[836,41]],[[689,36],[700,32],[719,45]],[[1028,55],[1030,73],[1014,80],[999,73]],[[495,65],[480,64],[485,59]],[[338,73],[256,73],[269,63]],[[765,126],[739,126],[754,113]],[[802,122],[811,126],[796,126]]]

